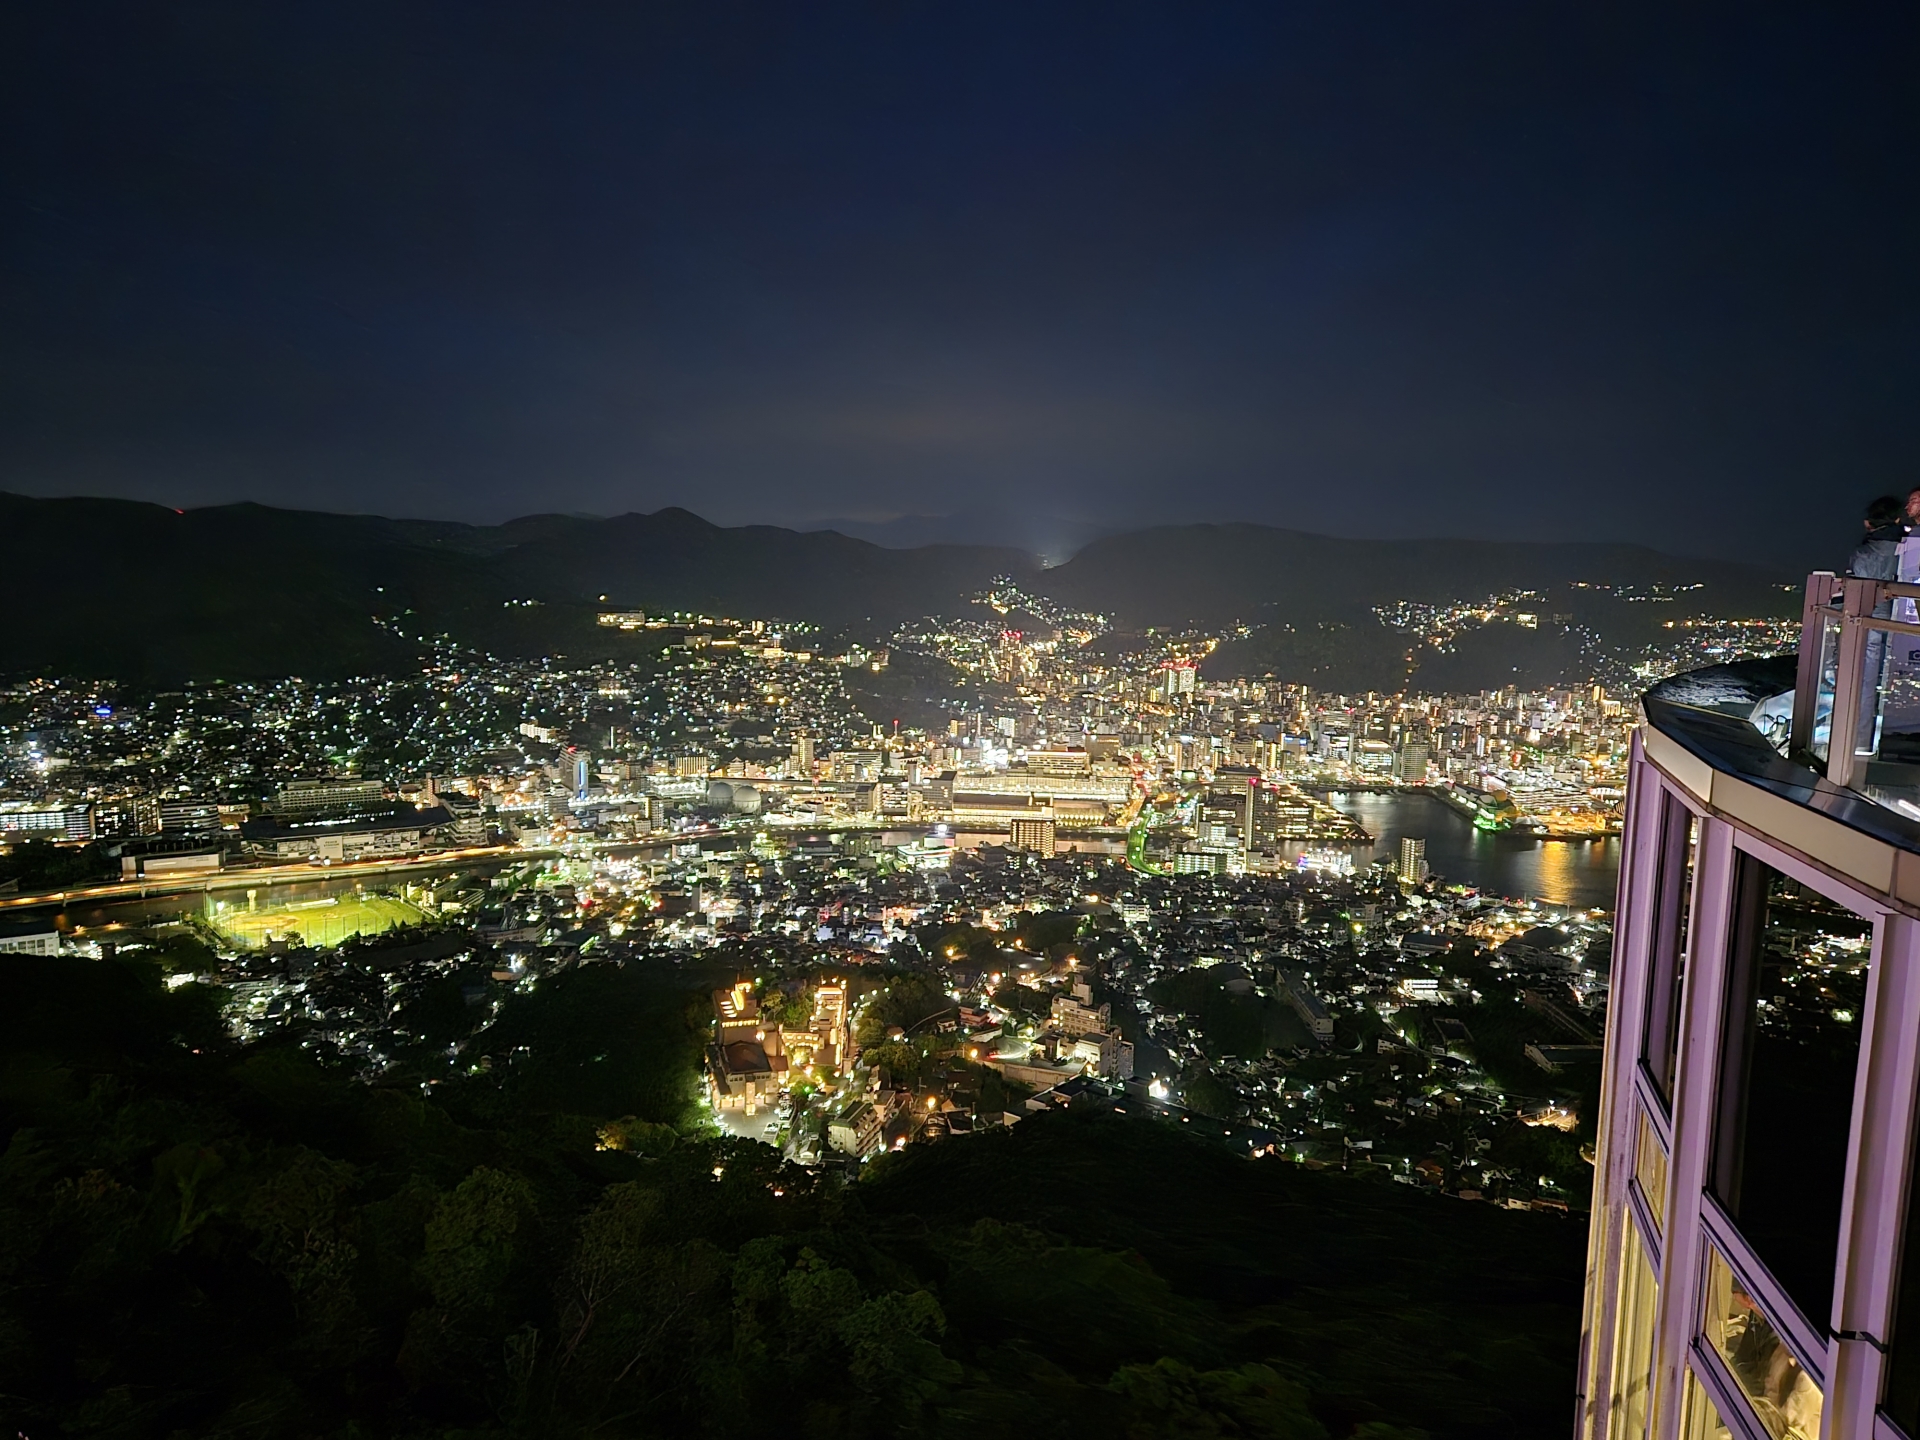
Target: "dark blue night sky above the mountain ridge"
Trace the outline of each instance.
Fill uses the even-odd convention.
[[[10,6],[0,488],[1832,561],[1907,10]]]

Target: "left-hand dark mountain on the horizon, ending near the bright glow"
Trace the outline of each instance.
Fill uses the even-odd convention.
[[[346,676],[422,634],[499,653],[618,653],[607,607],[874,624],[952,611],[1020,551],[881,549],[831,532],[726,530],[687,511],[503,526],[0,493],[10,586],[0,674],[119,680]],[[509,601],[540,601],[536,607]]]

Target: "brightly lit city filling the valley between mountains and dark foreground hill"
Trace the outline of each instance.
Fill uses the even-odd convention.
[[[1501,895],[1427,835],[1597,856],[1622,697],[1329,695],[1202,674],[1231,636],[1116,636],[1012,582],[973,605],[885,645],[601,612],[649,637],[624,666],[442,641],[407,680],[23,682],[0,824],[15,854],[60,843],[61,945],[192,937],[205,968],[177,981],[227,987],[236,1035],[292,1029],[369,1077],[472,1069],[396,1010],[428,977],[507,995],[660,956],[730,972],[714,1123],[803,1164],[1096,1081],[1254,1154],[1584,1206],[1576,1146],[1536,1131],[1574,1127],[1611,881],[1546,866]],[[989,685],[945,724],[872,720],[851,682],[912,657]],[[1367,797],[1421,833],[1369,833]],[[348,981],[367,941],[430,925],[465,939]]]

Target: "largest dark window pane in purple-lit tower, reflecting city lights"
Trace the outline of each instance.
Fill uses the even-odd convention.
[[[1740,856],[1713,1188],[1812,1325],[1834,1309],[1874,927]]]

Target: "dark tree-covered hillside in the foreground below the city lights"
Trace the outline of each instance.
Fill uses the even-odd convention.
[[[492,1068],[442,1046],[436,1087],[236,1048],[125,958],[8,973],[10,1430],[1519,1440],[1569,1411],[1578,1223],[1112,1114],[824,1181],[699,1137],[668,966],[503,995]]]

